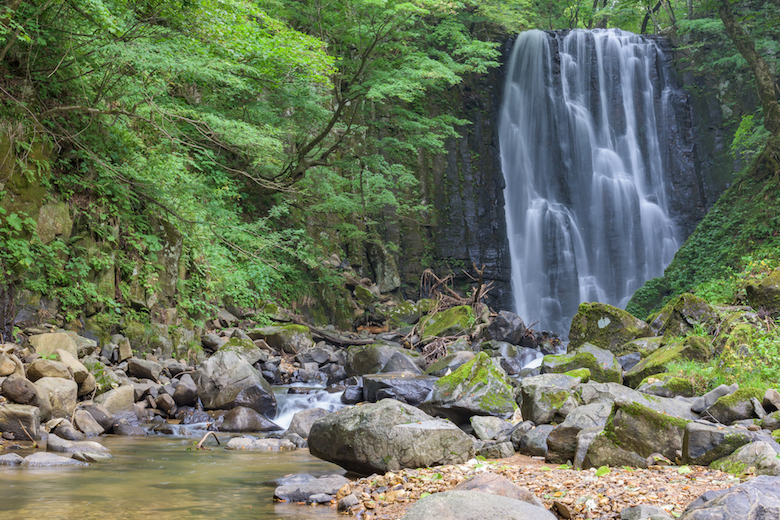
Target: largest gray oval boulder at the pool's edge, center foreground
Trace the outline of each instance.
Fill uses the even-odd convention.
[[[383,399],[315,422],[309,449],[349,471],[370,474],[462,463],[474,455],[474,441],[450,422]]]

